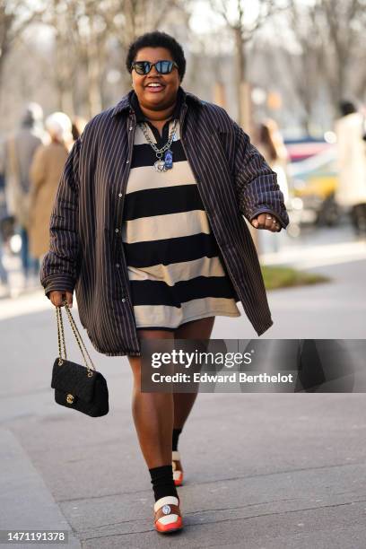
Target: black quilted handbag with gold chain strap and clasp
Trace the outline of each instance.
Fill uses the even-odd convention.
[[[64,305],[86,367],[67,360],[62,312],[61,307],[57,307],[59,356],[54,362],[51,380],[51,388],[55,389],[55,401],[59,405],[73,408],[92,417],[108,414],[109,393],[107,381],[99,371],[95,370],[92,359],[83,344],[82,336],[74,323],[67,301],[64,302]],[[62,352],[64,352],[64,356]],[[88,365],[85,354],[92,368]]]

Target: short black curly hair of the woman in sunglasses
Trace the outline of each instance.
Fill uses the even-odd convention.
[[[126,68],[129,73],[132,73],[131,64],[135,60],[139,49],[142,48],[169,49],[171,57],[179,67],[180,80],[183,80],[183,76],[186,73],[186,57],[184,57],[184,51],[179,42],[170,36],[170,34],[161,32],[160,30],[153,30],[153,32],[145,32],[145,34],[136,38],[129,45],[126,55]]]

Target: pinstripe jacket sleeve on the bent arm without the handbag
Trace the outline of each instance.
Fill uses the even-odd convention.
[[[236,135],[234,179],[240,212],[249,222],[259,213],[273,213],[285,229],[289,224],[289,216],[277,176],[262,154],[250,143],[248,134],[236,122],[233,124]]]

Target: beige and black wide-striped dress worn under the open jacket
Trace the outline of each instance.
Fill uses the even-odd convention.
[[[137,122],[145,120],[153,143],[171,144],[173,168],[157,172],[153,148],[136,126],[126,187],[122,240],[137,328],[174,330],[197,318],[239,317],[235,292],[205,213],[179,132],[181,100],[162,130],[144,118],[136,98]]]

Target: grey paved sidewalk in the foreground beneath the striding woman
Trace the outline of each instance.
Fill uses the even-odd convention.
[[[109,382],[107,416],[56,405],[49,388],[57,354],[53,312],[0,322],[7,357],[0,388],[1,527],[52,529],[65,519],[75,543],[88,549],[364,549],[363,394],[200,394],[179,441],[186,528],[167,539],[153,530],[126,358],[92,352]],[[219,318],[216,334],[232,326],[232,319]],[[70,332],[66,341],[77,360]],[[6,459],[13,474],[4,476]],[[9,525],[9,510],[22,510],[17,524],[15,513]]]

